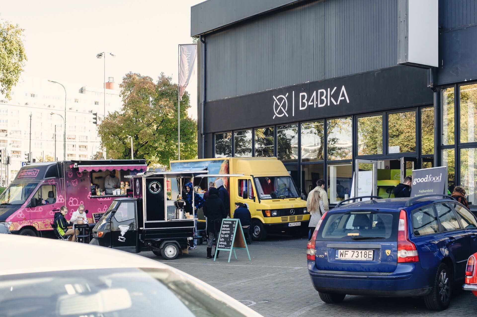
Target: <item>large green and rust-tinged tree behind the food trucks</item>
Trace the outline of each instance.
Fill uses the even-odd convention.
[[[157,82],[141,74],[127,73],[120,84],[123,107],[109,113],[98,126],[108,157],[130,159],[133,137],[135,159],[169,166],[177,159],[177,84],[161,74]],[[197,157],[197,122],[187,117],[189,94],[180,102],[181,159]]]

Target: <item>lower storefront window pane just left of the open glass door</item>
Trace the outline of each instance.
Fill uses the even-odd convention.
[[[337,204],[349,197],[352,175],[351,162],[328,164],[327,192],[330,204]]]

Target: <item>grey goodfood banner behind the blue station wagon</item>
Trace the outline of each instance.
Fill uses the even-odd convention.
[[[447,194],[447,166],[413,171],[411,197],[428,194]]]

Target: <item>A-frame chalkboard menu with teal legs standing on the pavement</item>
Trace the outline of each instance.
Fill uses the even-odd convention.
[[[217,258],[218,250],[226,250],[229,251],[228,262],[230,262],[232,252],[235,258],[237,258],[235,249],[247,250],[250,261],[249,248],[245,243],[245,236],[243,235],[242,226],[240,225],[240,219],[222,219],[222,225],[220,226],[220,232],[218,234],[218,243],[215,248],[214,261]]]

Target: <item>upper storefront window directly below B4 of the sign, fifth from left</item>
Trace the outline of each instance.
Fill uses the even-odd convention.
[[[301,161],[323,160],[324,122],[301,123]]]

